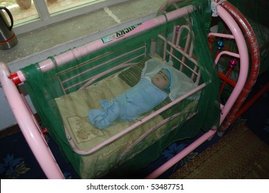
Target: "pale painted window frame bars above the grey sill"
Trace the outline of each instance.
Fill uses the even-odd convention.
[[[91,3],[87,3],[82,6],[76,6],[74,8],[69,8],[67,10],[63,10],[61,12],[56,12],[50,14],[48,8],[46,6],[46,2],[40,0],[33,0],[35,3],[35,8],[37,9],[37,14],[39,14],[39,18],[32,19],[23,23],[19,23],[13,27],[15,34],[23,34],[26,32],[30,32],[36,30],[38,28],[42,28],[53,23],[57,23],[59,21],[64,21],[66,19],[71,19],[72,17],[77,17],[82,14],[87,14],[89,12],[94,12],[96,10],[100,10],[102,8],[106,8],[109,6],[113,6],[118,3],[123,3],[129,0],[99,0],[93,1]]]

